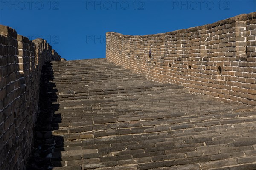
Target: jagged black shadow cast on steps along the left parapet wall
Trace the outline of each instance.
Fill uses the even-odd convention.
[[[34,147],[27,162],[26,170],[51,170],[52,153],[56,145],[63,145],[63,137],[52,135],[53,130],[58,130],[61,123],[61,115],[54,114],[59,109],[58,89],[54,79],[52,63],[45,63],[40,79],[40,95],[38,116],[34,130]]]

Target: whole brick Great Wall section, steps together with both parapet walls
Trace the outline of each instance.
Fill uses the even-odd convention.
[[[42,71],[43,66],[46,69]],[[96,71],[92,71],[94,67]],[[102,74],[99,70],[109,73],[99,76]],[[127,84],[124,81],[128,81]],[[40,84],[48,86],[49,91],[42,90]],[[35,132],[38,112],[42,109],[38,107],[40,91],[51,101],[52,107],[44,109],[54,113],[50,120],[51,130],[44,133]],[[115,98],[116,93],[128,104]],[[177,106],[174,94],[179,96],[179,102],[197,107],[201,107],[200,104],[206,107],[210,102],[206,97],[210,96],[219,100],[214,101],[215,105],[228,104],[228,109],[216,111],[212,107],[207,113],[201,114],[202,110],[197,110],[198,115],[193,115],[188,110],[177,113],[179,109],[175,107],[173,118],[160,110],[168,110],[170,104]],[[155,95],[154,102],[143,95]],[[144,107],[136,107],[128,115],[133,101]],[[56,102],[58,108],[53,107]],[[83,102],[89,104],[90,113]],[[109,108],[99,109],[102,104]],[[52,155],[47,157],[54,170],[161,169],[171,166],[191,170],[218,167],[254,170],[255,106],[256,12],[156,35],[107,32],[106,59],[81,62],[65,61],[46,40],[31,41],[18,35],[15,29],[0,25],[1,170],[25,169],[29,157],[34,154],[35,137],[41,134],[44,136],[41,139],[54,141],[56,148],[52,148]],[[102,113],[97,115],[94,111]],[[70,119],[71,112],[73,119]],[[53,121],[59,115],[61,121]],[[158,138],[152,137],[155,133]],[[193,143],[195,150],[191,146],[187,150],[180,149],[181,145],[167,146],[168,139],[172,138],[173,144],[177,136],[189,137],[188,133],[192,138],[207,136],[213,143],[221,134],[228,143],[218,151],[215,150],[217,147],[208,146],[212,145],[208,139],[199,141],[201,145]],[[243,134],[248,137],[246,140]],[[97,146],[97,142],[109,136],[110,146]],[[61,137],[61,142],[58,143],[57,137]],[[148,143],[146,145],[154,145],[154,150],[142,144],[142,139]],[[112,140],[124,141],[125,148],[121,144],[113,146]],[[84,142],[88,142],[87,145]],[[209,149],[212,151],[210,155],[204,156],[204,151]],[[227,153],[234,154],[229,157],[225,155]],[[195,155],[199,157],[195,158]],[[224,158],[227,161],[221,160]],[[188,161],[191,165],[186,163]]]

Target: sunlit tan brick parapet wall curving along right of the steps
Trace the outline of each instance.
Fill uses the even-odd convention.
[[[107,32],[106,58],[154,81],[256,106],[256,12],[155,35]]]

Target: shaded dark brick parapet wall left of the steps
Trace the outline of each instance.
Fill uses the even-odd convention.
[[[0,25],[0,169],[25,168],[33,144],[41,69],[61,60],[43,39]]]

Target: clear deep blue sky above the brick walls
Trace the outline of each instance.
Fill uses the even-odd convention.
[[[105,58],[105,33],[147,35],[256,11],[256,0],[0,0],[0,24],[67,60]]]

